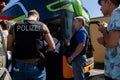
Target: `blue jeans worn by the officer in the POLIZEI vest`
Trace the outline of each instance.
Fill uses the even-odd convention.
[[[17,62],[13,67],[12,80],[46,80],[46,71],[32,64]]]

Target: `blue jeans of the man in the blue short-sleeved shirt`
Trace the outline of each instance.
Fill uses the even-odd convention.
[[[79,55],[72,61],[74,80],[85,80],[84,66],[86,55]]]

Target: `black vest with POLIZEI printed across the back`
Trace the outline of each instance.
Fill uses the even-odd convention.
[[[43,23],[23,20],[15,24],[14,51],[17,59],[35,58],[43,48]]]

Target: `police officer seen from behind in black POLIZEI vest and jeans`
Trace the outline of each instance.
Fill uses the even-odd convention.
[[[13,80],[46,80],[45,67],[36,66],[43,39],[48,43],[48,50],[53,51],[55,44],[52,36],[47,26],[39,22],[36,10],[30,10],[27,19],[10,28],[7,49],[14,51]]]

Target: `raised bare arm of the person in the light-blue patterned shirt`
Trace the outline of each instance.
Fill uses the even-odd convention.
[[[103,23],[101,26],[99,26],[99,31],[103,34],[104,46],[113,48],[117,45],[118,39],[120,38],[119,30],[113,29],[107,31],[106,26]]]

